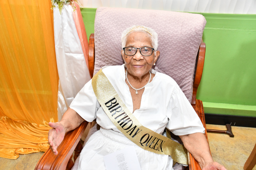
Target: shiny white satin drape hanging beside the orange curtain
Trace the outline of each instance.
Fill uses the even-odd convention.
[[[53,8],[54,42],[59,74],[58,120],[62,118],[84,84],[91,79],[72,11],[70,5],[64,5],[60,15],[58,7]]]

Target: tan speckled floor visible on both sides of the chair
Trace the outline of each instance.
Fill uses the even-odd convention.
[[[207,129],[226,130],[225,126],[209,125]],[[243,170],[243,165],[256,143],[256,128],[232,127],[234,138],[226,134],[208,133],[213,160],[228,170]],[[20,155],[17,160],[0,158],[0,170],[34,170],[42,152]],[[253,168],[256,170],[256,166]]]

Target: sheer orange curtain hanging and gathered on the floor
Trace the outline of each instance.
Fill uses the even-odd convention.
[[[50,0],[0,1],[0,157],[46,151],[58,73]]]

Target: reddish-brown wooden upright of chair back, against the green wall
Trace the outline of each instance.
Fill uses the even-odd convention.
[[[202,74],[203,74],[205,50],[206,50],[206,45],[202,40],[201,43],[200,43],[200,46],[199,46],[199,50],[198,50],[198,54],[197,54],[197,60],[196,60],[196,63],[195,63],[193,95],[192,95],[192,101],[191,101],[192,105],[195,105],[195,100],[196,100],[196,97],[197,97],[197,89],[198,89],[198,86],[200,84]]]

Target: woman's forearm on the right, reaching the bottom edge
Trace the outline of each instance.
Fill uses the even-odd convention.
[[[180,138],[185,148],[199,162],[202,170],[226,170],[224,166],[213,161],[209,144],[203,133],[180,135]]]

